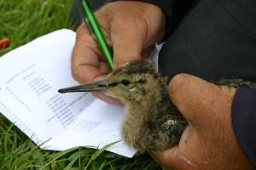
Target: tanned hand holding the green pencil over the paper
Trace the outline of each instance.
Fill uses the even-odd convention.
[[[165,15],[151,3],[117,1],[108,3],[96,11],[108,45],[113,48],[114,67],[132,59],[147,57],[165,34]],[[72,73],[80,83],[95,82],[109,73],[108,63],[95,38],[82,24],[77,30],[72,55]],[[103,93],[96,97],[119,104],[119,101]]]

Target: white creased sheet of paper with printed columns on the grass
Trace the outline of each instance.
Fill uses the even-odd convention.
[[[0,112],[47,150],[102,148],[120,140],[124,108],[89,93],[58,94],[77,85],[70,72],[75,33],[52,32],[0,58]],[[131,157],[123,142],[108,149]]]

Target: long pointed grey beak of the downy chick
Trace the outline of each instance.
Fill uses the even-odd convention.
[[[59,93],[71,93],[71,92],[96,92],[96,91],[103,91],[108,88],[106,79],[100,80],[97,82],[89,82],[86,84],[81,84],[78,86],[73,86],[70,88],[61,88],[58,90]]]

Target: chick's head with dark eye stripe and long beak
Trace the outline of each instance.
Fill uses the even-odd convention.
[[[108,95],[123,101],[141,102],[144,99],[158,99],[167,78],[160,77],[148,59],[133,60],[109,73],[107,78],[72,88],[62,88],[60,93],[106,90]]]

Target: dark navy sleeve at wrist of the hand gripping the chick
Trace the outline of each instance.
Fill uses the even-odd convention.
[[[237,89],[232,105],[232,123],[241,149],[256,167],[256,89]]]

